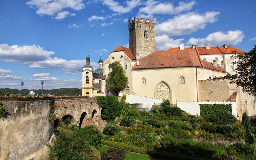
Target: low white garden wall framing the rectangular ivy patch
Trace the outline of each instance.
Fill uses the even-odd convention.
[[[205,101],[178,101],[177,102],[177,107],[179,107],[180,109],[188,112],[189,114],[192,114],[192,115],[200,115],[200,106],[199,104],[230,104],[232,105],[232,114],[237,118],[237,110],[236,110],[236,102],[205,102]]]

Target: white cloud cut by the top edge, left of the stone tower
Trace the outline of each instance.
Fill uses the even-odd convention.
[[[134,7],[140,4],[140,0],[125,1],[126,7],[119,5],[118,2],[113,0],[103,0],[103,4],[108,5],[108,8],[118,13],[130,12]]]

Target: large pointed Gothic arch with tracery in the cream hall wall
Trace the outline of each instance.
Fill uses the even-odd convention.
[[[171,91],[172,90],[170,86],[166,82],[161,81],[155,87],[154,96],[155,98],[162,99],[162,100],[170,100],[172,102]]]

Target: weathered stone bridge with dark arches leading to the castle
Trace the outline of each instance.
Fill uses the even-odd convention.
[[[72,124],[79,124],[81,127],[94,124],[102,129],[101,108],[96,97],[54,100],[54,105],[57,106],[54,111],[57,118],[70,117]]]

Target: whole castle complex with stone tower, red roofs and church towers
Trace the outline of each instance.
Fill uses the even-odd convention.
[[[134,18],[128,22],[129,48],[119,45],[106,60],[100,58],[95,72],[90,57],[86,57],[83,95],[122,95],[106,85],[108,65],[119,61],[128,77],[123,93],[168,99],[171,105],[177,101],[236,101],[238,117],[245,111],[248,115],[256,113],[255,97],[222,78],[234,74],[233,62],[237,59],[232,52],[244,51],[226,44],[217,47],[180,44],[167,51],[156,51],[154,20]]]

